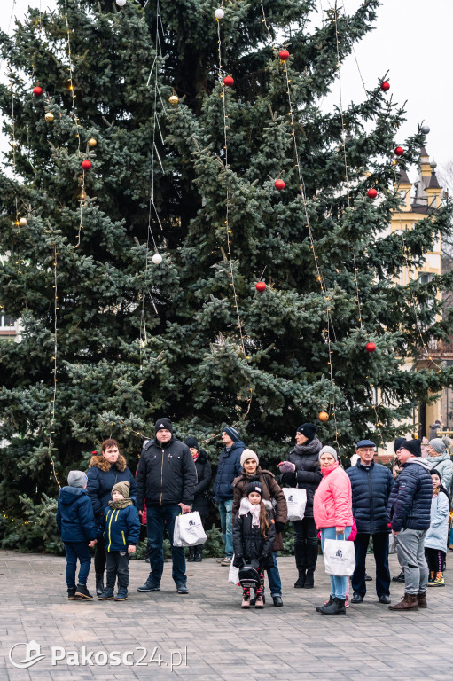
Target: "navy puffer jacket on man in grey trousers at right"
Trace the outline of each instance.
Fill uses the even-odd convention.
[[[387,503],[387,518],[395,532],[428,529],[431,523],[433,482],[425,458],[410,458],[394,481]]]

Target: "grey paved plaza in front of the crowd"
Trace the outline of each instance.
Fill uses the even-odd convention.
[[[395,575],[395,556],[390,561]],[[239,607],[240,589],[227,583],[228,568],[214,559],[188,564],[188,596],[176,594],[169,563],[160,593],[137,593],[148,566],[133,560],[129,600],[101,603],[67,601],[65,559],[0,552],[0,679],[445,681],[451,677],[453,575],[449,571],[446,587],[428,590],[427,610],[391,613],[378,603],[371,582],[362,605],[349,607],[346,617],[325,617],[315,611],[329,592],[322,558],[316,588],[307,591],[293,589],[293,558],[278,562],[285,607],[273,607],[268,601],[262,611],[244,612]],[[371,556],[367,564],[372,574]],[[89,587],[94,591],[92,574]],[[402,592],[402,584],[392,585],[393,602]],[[40,650],[29,650],[26,656],[24,644],[32,641]],[[16,663],[35,654],[45,656],[27,669],[18,669],[10,660],[16,644],[20,645],[11,654]]]

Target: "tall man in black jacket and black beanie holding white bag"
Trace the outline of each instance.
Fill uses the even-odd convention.
[[[181,512],[191,511],[197,472],[189,447],[173,437],[170,419],[158,419],[155,432],[155,439],[144,446],[136,474],[140,515],[143,515],[146,506],[151,566],[148,579],[137,591],[160,591],[160,578],[164,568],[164,527],[167,523],[176,591],[189,593],[184,548],[173,545],[173,532],[176,516]]]

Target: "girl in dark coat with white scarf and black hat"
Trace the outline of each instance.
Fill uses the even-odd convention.
[[[233,522],[234,563],[236,568],[251,565],[260,575],[254,607],[264,607],[262,590],[264,570],[272,568],[272,548],[275,540],[272,505],[262,501],[261,482],[250,482],[247,496],[241,500]],[[241,607],[250,607],[250,589],[244,587]]]

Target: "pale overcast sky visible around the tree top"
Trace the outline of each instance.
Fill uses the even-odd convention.
[[[346,11],[354,12],[361,2],[344,0]],[[40,4],[43,12],[54,6],[51,0],[1,0],[0,27],[7,30],[12,12],[20,18],[28,5],[39,7]],[[325,11],[333,5],[333,0],[317,0],[317,4],[320,11]],[[339,6],[341,4],[343,0],[339,0]],[[398,103],[407,100],[408,120],[398,144],[417,129],[418,122],[425,121],[431,128],[426,140],[427,152],[440,165],[453,160],[452,27],[453,0],[383,0],[375,30],[355,45],[366,87],[374,87],[379,77],[389,70],[394,100]],[[13,20],[11,31],[12,28]],[[363,84],[354,57],[342,67],[341,81],[344,104],[363,98]],[[337,100],[335,87],[331,101]],[[4,140],[0,147],[4,148]],[[414,173],[410,176],[413,179]]]

